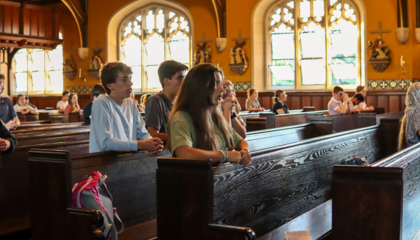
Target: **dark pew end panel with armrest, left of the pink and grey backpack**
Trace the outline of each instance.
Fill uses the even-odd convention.
[[[99,211],[68,208],[71,206],[69,151],[33,149],[30,154],[32,239],[104,239],[104,234],[96,229],[103,221]]]

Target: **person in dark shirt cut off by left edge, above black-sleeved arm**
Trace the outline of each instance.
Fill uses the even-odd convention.
[[[3,94],[4,91],[4,79],[6,77],[3,74],[0,74],[0,94]],[[14,130],[17,126],[21,125],[16,111],[13,108],[13,104],[9,98],[0,96],[0,120],[6,125],[7,129]]]

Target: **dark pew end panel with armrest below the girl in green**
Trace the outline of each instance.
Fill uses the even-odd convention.
[[[158,159],[158,239],[256,239],[251,229],[212,224],[212,169],[211,160]]]

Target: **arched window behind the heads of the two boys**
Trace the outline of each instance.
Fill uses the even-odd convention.
[[[181,11],[149,5],[131,14],[120,30],[119,58],[133,69],[134,91],[159,91],[157,69],[173,59],[191,66],[191,29]]]

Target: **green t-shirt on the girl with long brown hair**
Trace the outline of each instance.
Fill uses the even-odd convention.
[[[169,127],[171,129],[170,137],[172,156],[175,156],[175,150],[180,146],[190,146],[193,149],[196,148],[196,130],[194,129],[191,116],[187,112],[176,112],[176,114],[172,116]],[[235,146],[238,145],[239,141],[242,141],[243,139],[231,127],[229,127],[229,131],[234,137]],[[223,134],[221,134],[219,126],[216,124],[214,124],[214,132],[219,139],[216,142],[217,149],[226,149],[226,141],[224,140]]]

